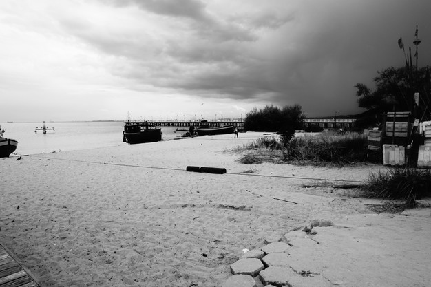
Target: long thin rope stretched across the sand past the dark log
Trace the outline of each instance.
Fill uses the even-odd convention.
[[[170,167],[149,167],[149,166],[144,166],[144,165],[119,164],[119,163],[114,163],[114,162],[93,162],[93,161],[87,161],[87,160],[72,160],[72,159],[68,159],[68,158],[52,158],[49,156],[40,156],[40,155],[28,155],[28,156],[31,156],[34,158],[47,158],[50,160],[65,160],[65,161],[70,161],[70,162],[114,165],[116,167],[139,167],[142,169],[162,169],[162,170],[168,170],[168,171],[185,171],[185,169],[175,169],[175,168],[170,168]],[[252,174],[252,173],[229,173],[229,172],[226,172],[226,174],[229,174],[231,176],[260,176],[262,178],[288,178],[288,179],[293,179],[293,180],[317,180],[317,181],[326,181],[326,182],[360,182],[360,183],[366,183],[366,181],[364,181],[364,180],[335,180],[335,179],[330,179],[330,178],[307,178],[307,177],[301,177],[301,176],[273,176],[273,175]]]

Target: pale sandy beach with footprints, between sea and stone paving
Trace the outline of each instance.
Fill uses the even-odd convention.
[[[344,222],[372,213],[366,199],[351,196],[354,189],[302,184],[367,180],[385,167],[240,164],[231,149],[260,136],[1,158],[0,242],[41,286],[221,286],[243,249],[266,237],[314,219]],[[425,286],[427,279],[403,286]]]

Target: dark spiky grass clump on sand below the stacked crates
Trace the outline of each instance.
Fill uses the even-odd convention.
[[[371,173],[365,187],[368,198],[405,200],[406,206],[416,206],[416,200],[431,194],[430,170],[397,167],[387,173]]]

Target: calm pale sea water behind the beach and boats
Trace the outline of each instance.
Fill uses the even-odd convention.
[[[46,123],[55,131],[34,133],[43,123],[1,123],[6,138],[18,140],[17,154],[51,153],[127,145],[123,142],[123,122]],[[178,138],[176,127],[162,127],[162,140]],[[145,144],[143,144],[145,145]]]

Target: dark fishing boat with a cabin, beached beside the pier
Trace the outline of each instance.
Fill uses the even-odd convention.
[[[144,142],[158,142],[162,140],[162,129],[148,122],[126,120],[123,131],[123,142],[137,144]]]

